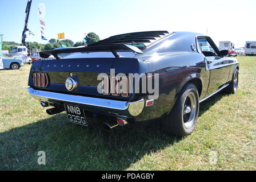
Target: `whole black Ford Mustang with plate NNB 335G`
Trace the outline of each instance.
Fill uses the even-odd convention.
[[[71,53],[66,57],[58,55]],[[40,52],[28,92],[48,114],[112,118],[110,128],[161,118],[166,133],[192,133],[199,103],[225,89],[237,92],[238,61],[195,32],[147,31],[115,35],[87,47]]]

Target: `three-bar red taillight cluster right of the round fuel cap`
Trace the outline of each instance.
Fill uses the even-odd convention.
[[[102,77],[102,93],[105,95],[112,94],[113,96],[129,97],[129,77]]]

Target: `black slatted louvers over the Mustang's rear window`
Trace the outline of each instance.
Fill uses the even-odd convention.
[[[140,49],[145,48],[151,43],[154,43],[159,38],[169,34],[168,31],[147,31],[147,32],[134,32],[129,34],[120,34],[110,36],[107,39],[99,40],[88,46],[103,46],[109,44],[130,44]]]

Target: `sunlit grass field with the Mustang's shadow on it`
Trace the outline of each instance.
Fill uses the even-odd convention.
[[[47,115],[27,94],[30,65],[1,70],[0,169],[256,170],[256,57],[237,58],[238,93],[202,102],[197,127],[183,139],[165,135],[159,122],[106,131],[97,119],[85,128],[65,113]]]

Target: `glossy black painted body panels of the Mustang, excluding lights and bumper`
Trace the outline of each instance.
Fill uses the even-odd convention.
[[[127,101],[139,100],[141,97],[147,100],[147,94],[134,93],[128,98],[111,95],[102,96],[97,93],[96,85],[99,81],[95,80],[97,79],[95,73],[109,73],[110,68],[115,68],[116,73],[158,73],[158,99],[154,101],[153,106],[145,107],[142,113],[134,119],[144,121],[159,118],[171,111],[179,92],[188,82],[192,81],[197,85],[199,97],[202,100],[231,81],[234,69],[238,67],[238,61],[231,57],[204,56],[197,43],[198,36],[201,35],[193,32],[174,32],[143,50],[142,55],[137,54],[133,58],[37,61],[30,71],[29,86],[34,88],[32,78],[34,72],[46,72],[50,75],[51,81],[47,90],[53,92],[84,94],[91,97],[107,97]],[[209,38],[207,36],[203,37]],[[166,44],[169,46],[164,47],[166,41],[169,41]],[[196,49],[193,49],[193,46]],[[217,53],[219,52],[217,51]],[[157,55],[157,58],[155,58],[155,55]],[[88,69],[86,68],[87,64],[90,65]],[[97,68],[97,65],[100,65],[99,68]],[[70,73],[76,75],[81,81],[79,89],[74,92],[68,92],[65,88],[65,79],[69,77]],[[84,77],[90,77],[90,80],[85,80]]]

